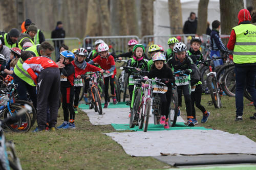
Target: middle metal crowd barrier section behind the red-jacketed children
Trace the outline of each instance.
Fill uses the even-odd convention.
[[[139,41],[139,37],[136,35],[128,36],[96,36],[96,37],[84,37],[83,47],[94,46],[94,42],[98,39],[102,39],[106,44],[110,46],[110,52],[115,54],[127,52],[127,42],[130,39],[136,39]]]

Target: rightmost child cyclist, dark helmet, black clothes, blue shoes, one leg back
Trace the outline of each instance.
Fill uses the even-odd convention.
[[[200,52],[201,39],[199,37],[193,37],[190,40],[190,48],[188,50],[188,55],[194,61],[194,63],[198,64],[199,61],[203,61],[203,55]],[[197,77],[197,78],[196,78]],[[203,113],[203,118],[201,123],[205,123],[208,120],[210,112],[207,112],[205,108],[201,105],[201,97],[202,97],[202,82],[200,81],[200,71],[197,68],[195,74],[191,76],[191,102],[192,102],[192,115],[194,116],[194,125],[198,124],[196,119],[196,110],[195,104],[198,109]]]

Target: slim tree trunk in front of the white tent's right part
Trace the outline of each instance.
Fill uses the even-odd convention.
[[[198,4],[197,35],[199,36],[206,34],[208,3],[209,3],[209,0],[200,0]]]

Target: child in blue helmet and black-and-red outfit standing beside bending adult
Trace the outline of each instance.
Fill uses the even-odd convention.
[[[75,56],[70,51],[63,51],[60,54],[59,62],[60,68],[60,92],[62,94],[62,109],[64,122],[57,127],[58,129],[75,129],[75,112],[73,108],[74,100],[74,77],[75,68],[71,64]],[[69,119],[70,116],[70,119]]]

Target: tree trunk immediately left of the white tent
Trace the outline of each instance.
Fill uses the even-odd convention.
[[[147,0],[141,2],[141,36],[153,35],[153,0]]]

